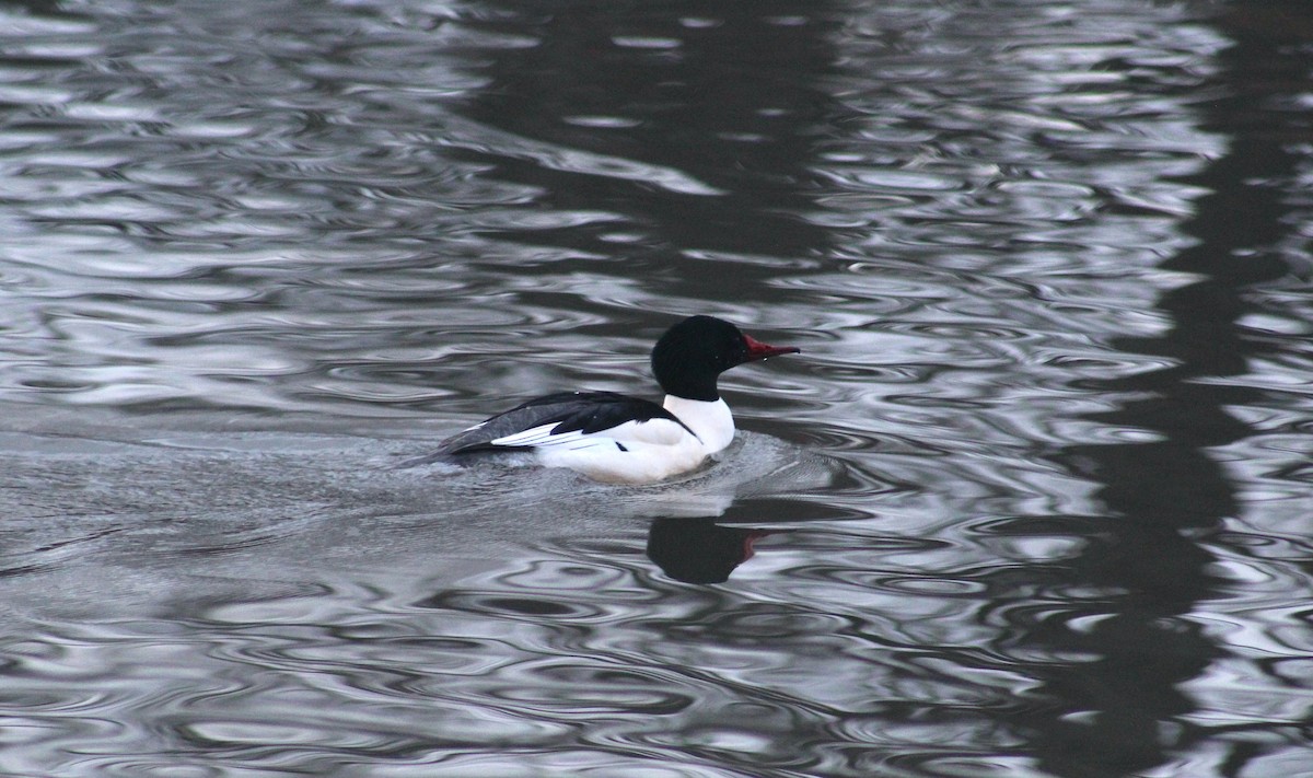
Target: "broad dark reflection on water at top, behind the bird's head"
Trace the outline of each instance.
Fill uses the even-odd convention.
[[[624,239],[617,275],[684,276],[681,294],[697,279],[712,304],[772,296],[763,281],[779,265],[735,263],[735,255],[804,263],[835,239],[798,216],[811,210],[817,141],[842,121],[825,89],[835,74],[835,4],[810,3],[805,13],[780,0],[488,8],[486,29],[532,30],[538,45],[484,68],[491,83],[462,113],[536,141],[679,170],[697,183],[508,164],[491,149],[496,175],[542,191],[542,205],[607,208],[628,231],[583,225],[494,237],[595,255],[614,255]]]

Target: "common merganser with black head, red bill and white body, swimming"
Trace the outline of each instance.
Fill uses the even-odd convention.
[[[689,317],[653,347],[662,405],[613,392],[548,394],[448,438],[439,455],[533,451],[546,467],[597,481],[651,484],[697,468],[734,440],[734,417],[716,385],[722,372],[798,352],[754,340],[723,319]]]

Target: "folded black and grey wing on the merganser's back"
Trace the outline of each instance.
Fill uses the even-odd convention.
[[[439,453],[532,448],[528,446],[494,446],[492,440],[545,424],[555,424],[551,428],[553,435],[574,431],[590,435],[618,427],[625,422],[650,419],[670,419],[684,426],[675,414],[649,400],[625,397],[614,392],[561,392],[517,405],[448,438],[439,446]]]

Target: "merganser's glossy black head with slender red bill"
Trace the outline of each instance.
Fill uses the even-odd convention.
[[[666,394],[714,402],[721,398],[716,380],[731,367],[798,352],[790,346],[754,340],[723,319],[696,315],[666,330],[656,340],[653,375]]]

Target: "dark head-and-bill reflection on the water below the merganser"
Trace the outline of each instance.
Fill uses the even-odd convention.
[[[685,584],[723,584],[752,559],[752,544],[786,530],[722,527],[710,519],[656,519],[647,530],[647,559]]]

